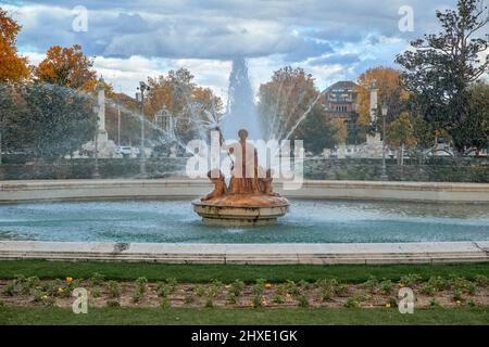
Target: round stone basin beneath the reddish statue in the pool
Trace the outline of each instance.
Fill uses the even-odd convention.
[[[287,198],[272,195],[227,195],[192,205],[205,226],[271,226],[289,211]]]

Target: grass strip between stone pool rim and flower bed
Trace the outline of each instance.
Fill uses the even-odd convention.
[[[0,261],[0,279],[16,274],[36,275],[40,279],[83,278],[95,272],[108,280],[133,281],[146,277],[149,281],[176,278],[179,282],[210,282],[214,279],[231,282],[240,279],[254,282],[266,279],[269,282],[310,281],[337,279],[348,283],[361,283],[371,275],[398,281],[402,275],[418,273],[423,279],[431,275],[457,275],[474,279],[477,274],[489,274],[489,262],[462,265],[165,265],[154,262],[100,262],[100,261],[47,261],[3,260]]]

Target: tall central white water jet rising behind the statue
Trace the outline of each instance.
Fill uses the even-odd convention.
[[[233,61],[223,134],[226,140],[235,139],[239,129],[247,129],[250,139],[262,138],[253,89],[248,76],[248,64],[243,57],[236,57]]]

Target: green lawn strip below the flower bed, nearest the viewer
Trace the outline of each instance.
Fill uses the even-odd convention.
[[[63,308],[0,308],[0,324],[489,324],[489,308],[418,309],[212,309],[99,308],[75,314]]]

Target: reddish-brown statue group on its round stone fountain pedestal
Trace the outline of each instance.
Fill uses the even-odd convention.
[[[231,178],[226,184],[218,169],[208,172],[214,190],[192,202],[193,210],[208,226],[268,226],[289,210],[287,198],[273,191],[273,171],[259,166],[258,153],[247,142],[248,131],[238,132],[239,142],[223,146],[236,160],[231,165]]]

